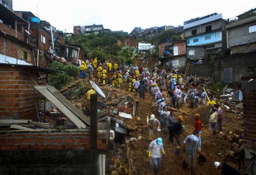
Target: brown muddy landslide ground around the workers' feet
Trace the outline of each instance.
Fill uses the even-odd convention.
[[[110,86],[100,86],[102,91],[105,95],[108,95],[110,91]],[[136,109],[136,117],[132,119],[125,119],[126,123],[130,126],[134,127],[136,131],[130,132],[130,135],[127,138],[135,137],[138,138],[138,142],[135,143],[136,145],[132,146],[131,152],[129,155],[131,161],[131,175],[152,175],[152,169],[150,166],[150,159],[148,158],[148,144],[150,141],[148,140],[148,129],[146,128],[146,115],[154,114],[157,119],[159,119],[159,114],[157,112],[157,107],[151,108],[150,106],[154,103],[153,98],[149,95],[148,92],[145,93],[145,99],[140,100],[139,94],[135,96],[134,93],[128,92],[126,89],[116,89],[113,88],[111,95],[109,96],[108,100],[103,100],[102,98],[98,97],[98,101],[104,101],[105,103],[113,102],[114,100],[127,97],[128,95],[132,95],[135,100],[139,101]],[[164,92],[164,96],[166,98],[167,92]],[[79,101],[79,100],[78,100]],[[87,100],[85,100],[85,96],[80,98],[80,102],[82,105],[88,105]],[[167,104],[169,105],[169,99],[166,99]],[[115,106],[108,106],[109,109],[116,108]],[[189,107],[189,103],[184,104],[181,107],[181,110],[188,112],[189,114],[192,113],[192,109]],[[124,112],[132,114],[132,108],[126,109]],[[241,128],[242,120],[239,119],[238,115],[234,115],[233,112],[224,112],[224,125],[223,131],[224,133],[228,133],[230,131],[234,131],[238,128]],[[186,136],[192,134],[194,127],[190,125],[188,122],[190,121],[189,116],[183,115],[185,117],[185,131],[181,135],[182,142],[186,138]],[[139,120],[138,120],[139,119]],[[202,154],[207,158],[207,162],[204,165],[199,165],[196,163],[196,173],[198,175],[217,175],[219,172],[214,168],[214,161],[222,162],[223,159],[226,157],[226,153],[232,149],[230,142],[225,140],[221,135],[217,134],[215,138],[212,137],[212,132],[209,131],[208,126],[203,126],[203,132],[201,134],[202,139]],[[219,130],[217,129],[217,133]],[[141,137],[140,137],[141,136]],[[176,141],[174,144],[170,143],[168,140],[168,135],[163,137],[163,133],[160,133],[160,137],[163,138],[163,146],[166,151],[166,156],[162,159],[162,165],[160,168],[160,175],[189,175],[190,169],[182,169],[182,162],[184,154],[180,157],[175,155],[176,150]],[[140,139],[141,138],[141,139]],[[122,144],[122,146],[120,146]],[[124,146],[125,141],[122,140],[116,144],[116,154],[111,154],[111,164],[113,165],[113,161],[117,158],[125,158],[126,155],[126,147]],[[183,150],[183,147],[181,148]],[[121,160],[120,160],[121,161]],[[228,164],[238,169],[238,164],[233,163],[232,161],[228,161]],[[127,166],[126,166],[127,167]],[[113,167],[112,167],[113,169]]]

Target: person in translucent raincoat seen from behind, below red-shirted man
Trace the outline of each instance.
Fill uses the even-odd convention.
[[[198,144],[198,131],[194,130],[192,135],[186,137],[184,143],[185,157],[183,161],[183,169],[186,169],[189,165],[191,167],[191,175],[195,175],[195,158],[196,152],[201,153],[201,149]]]

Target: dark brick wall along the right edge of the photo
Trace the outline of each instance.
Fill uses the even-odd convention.
[[[253,79],[251,81],[251,79]],[[256,77],[242,77],[244,140],[246,147],[256,149]]]

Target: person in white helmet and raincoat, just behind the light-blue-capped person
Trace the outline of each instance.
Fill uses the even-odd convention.
[[[148,118],[148,116],[147,116]],[[148,139],[153,141],[157,138],[157,129],[160,128],[160,121],[155,118],[155,115],[152,114],[147,123],[148,127]]]

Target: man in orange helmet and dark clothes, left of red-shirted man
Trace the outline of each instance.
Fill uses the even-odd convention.
[[[180,134],[183,132],[183,126],[182,122],[184,121],[183,116],[178,116],[177,122],[174,123],[174,138],[177,142],[177,149],[175,152],[175,155],[179,156],[180,155],[180,146],[181,146],[181,141],[180,141]]]

